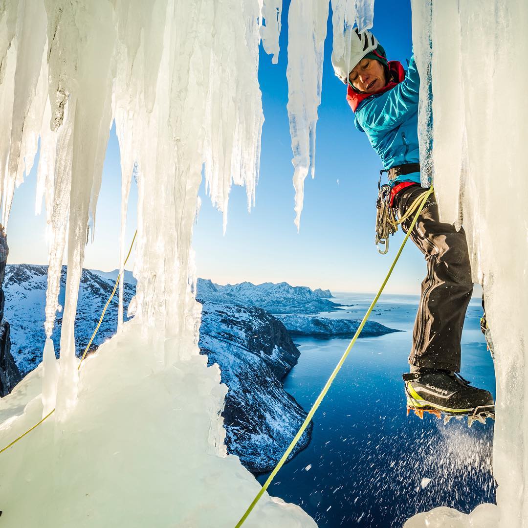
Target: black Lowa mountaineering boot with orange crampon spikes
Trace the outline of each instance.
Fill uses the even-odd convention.
[[[430,412],[444,420],[452,417],[468,417],[485,423],[495,417],[495,404],[491,393],[472,387],[460,374],[439,369],[420,367],[416,372],[403,374],[407,395],[407,414],[412,410],[423,418]]]

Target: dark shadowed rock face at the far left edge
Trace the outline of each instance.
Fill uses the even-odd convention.
[[[20,371],[11,355],[10,325],[4,320],[5,296],[2,283],[4,282],[8,252],[7,238],[2,228],[0,230],[0,397],[9,394],[14,386],[22,380]]]

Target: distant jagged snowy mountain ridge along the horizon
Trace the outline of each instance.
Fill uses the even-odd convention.
[[[196,297],[219,303],[258,306],[271,314],[317,314],[337,310],[329,290],[312,290],[307,286],[290,286],[287,282],[251,282],[220,286],[211,280],[198,279]]]

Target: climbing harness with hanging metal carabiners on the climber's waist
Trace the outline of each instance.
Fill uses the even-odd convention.
[[[419,164],[412,164],[418,165]],[[392,169],[390,169],[392,170]],[[386,170],[380,171],[380,180],[378,182],[378,200],[376,201],[376,246],[378,247],[378,252],[382,255],[388,253],[389,251],[389,237],[392,236],[395,232],[398,231],[398,226],[406,221],[416,208],[418,204],[423,199],[423,196],[429,193],[429,191],[423,191],[414,202],[412,202],[410,208],[406,213],[400,218],[397,219],[392,207],[392,202],[394,196],[401,191],[403,188],[410,185],[416,185],[413,182],[402,182],[398,185],[395,185],[393,188],[388,184],[381,185],[381,176]]]

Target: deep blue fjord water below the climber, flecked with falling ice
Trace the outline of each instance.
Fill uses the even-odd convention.
[[[336,294],[345,306],[325,317],[361,319],[372,296]],[[275,477],[269,492],[299,504],[319,526],[396,528],[436,506],[469,513],[495,502],[493,421],[486,425],[406,416],[401,374],[418,296],[381,298],[371,320],[402,332],[357,340],[314,417],[312,441]],[[461,374],[495,395],[493,361],[472,299],[462,341]],[[285,389],[308,410],[349,340],[296,337],[298,364]],[[285,446],[286,448],[286,446]],[[259,475],[263,483],[268,474]],[[430,480],[428,480],[430,479]]]

